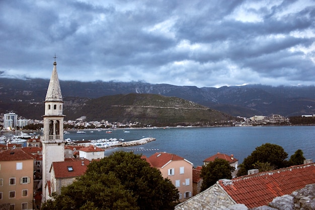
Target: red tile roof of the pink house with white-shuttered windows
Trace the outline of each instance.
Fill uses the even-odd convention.
[[[146,159],[150,165],[155,168],[162,168],[170,161],[182,161],[185,160],[182,157],[179,157],[170,153],[155,153]]]

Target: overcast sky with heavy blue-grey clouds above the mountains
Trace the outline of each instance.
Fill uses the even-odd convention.
[[[104,2],[104,3],[100,3]],[[0,1],[0,77],[315,85],[315,1]]]

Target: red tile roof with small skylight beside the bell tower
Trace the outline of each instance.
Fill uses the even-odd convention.
[[[77,177],[85,174],[90,161],[87,159],[78,161],[61,161],[53,162],[52,167],[54,168],[55,178],[69,178]],[[72,170],[68,170],[71,167]]]

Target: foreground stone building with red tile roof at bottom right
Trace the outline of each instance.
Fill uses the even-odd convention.
[[[275,197],[315,183],[315,164],[219,180],[205,191],[178,204],[175,210],[225,209],[234,204],[248,208],[268,205]]]

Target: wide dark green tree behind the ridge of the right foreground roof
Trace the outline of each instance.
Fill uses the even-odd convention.
[[[240,165],[238,176],[246,175],[247,171],[254,169],[255,164],[258,162],[269,163],[270,167],[274,169],[285,167],[287,165],[285,161],[287,157],[288,154],[282,147],[270,143],[263,144],[244,159],[243,163]]]

